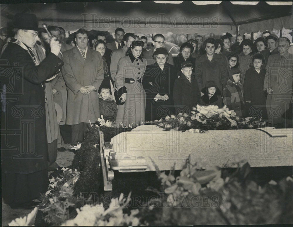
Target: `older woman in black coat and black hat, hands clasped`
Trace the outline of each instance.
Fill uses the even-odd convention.
[[[153,58],[156,62],[147,65],[142,78],[142,86],[147,95],[146,121],[159,120],[174,112],[174,66],[166,62],[169,54],[165,48],[157,48]]]

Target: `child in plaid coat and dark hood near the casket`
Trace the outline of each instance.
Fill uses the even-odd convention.
[[[240,83],[241,71],[239,68],[232,68],[229,71],[229,79],[223,89],[224,105],[229,110],[234,110],[239,117],[244,116],[243,87]]]

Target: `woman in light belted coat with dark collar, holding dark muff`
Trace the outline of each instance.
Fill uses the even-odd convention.
[[[142,57],[143,41],[132,41],[126,56],[118,62],[115,85],[119,100],[116,124],[124,126],[141,125],[145,119],[146,93],[142,86],[142,76],[147,60]]]

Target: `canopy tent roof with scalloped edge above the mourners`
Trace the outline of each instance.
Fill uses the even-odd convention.
[[[163,4],[162,4],[163,3]],[[292,2],[102,1],[1,4],[1,26],[15,13],[35,13],[41,23],[66,31],[78,28],[133,33],[222,34],[292,28]],[[175,4],[174,4],[175,3]],[[243,3],[243,2],[242,2]],[[248,5],[249,4],[249,5]],[[252,5],[251,5],[252,4]]]

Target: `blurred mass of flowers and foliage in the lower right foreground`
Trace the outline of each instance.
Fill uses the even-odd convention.
[[[244,160],[228,175],[218,167],[204,170],[200,162],[189,161],[178,177],[172,171],[168,175],[161,173],[166,196],[153,199],[140,209],[140,223],[151,226],[292,223],[292,177],[260,186],[251,179],[249,164],[243,163]]]

